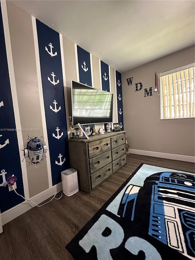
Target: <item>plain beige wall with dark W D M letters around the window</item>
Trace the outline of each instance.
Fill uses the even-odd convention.
[[[155,71],[161,73],[195,60],[194,46],[173,53],[122,74],[124,129],[130,149],[195,155],[195,119],[160,119],[160,97],[154,92]],[[133,77],[132,85],[127,78]],[[143,87],[135,91],[135,84]],[[144,88],[152,87],[152,96],[144,97]],[[139,89],[139,84],[138,84]]]

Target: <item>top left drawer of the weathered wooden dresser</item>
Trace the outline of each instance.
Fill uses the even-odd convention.
[[[109,151],[111,149],[110,138],[103,138],[88,144],[89,158]]]

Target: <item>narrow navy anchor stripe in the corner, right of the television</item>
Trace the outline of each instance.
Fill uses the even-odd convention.
[[[124,130],[123,126],[123,106],[122,106],[122,82],[121,73],[116,70],[116,95],[117,95],[117,108],[118,108],[118,121],[121,130]]]

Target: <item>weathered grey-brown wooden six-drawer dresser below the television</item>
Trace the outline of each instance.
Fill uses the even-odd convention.
[[[70,167],[77,170],[79,189],[90,193],[126,164],[125,132],[68,139]]]

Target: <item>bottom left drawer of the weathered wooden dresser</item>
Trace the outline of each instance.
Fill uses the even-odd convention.
[[[112,162],[90,175],[91,188],[95,188],[98,184],[100,184],[110,175],[112,175]]]

